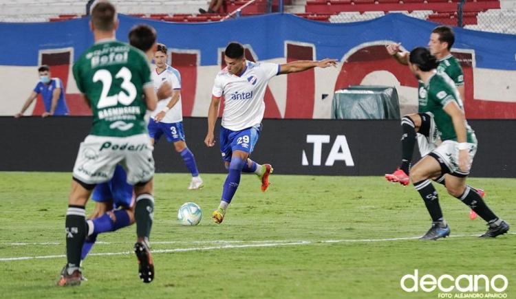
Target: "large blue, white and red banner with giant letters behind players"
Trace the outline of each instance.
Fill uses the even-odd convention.
[[[71,67],[92,45],[88,18],[56,23],[0,23],[0,115],[14,115],[36,85],[37,67],[51,65],[63,80],[72,115],[91,112],[79,99]],[[372,21],[321,23],[290,14],[250,16],[224,22],[165,23],[120,15],[117,38],[137,23],[158,30],[158,41],[169,47],[171,64],[182,74],[185,116],[204,117],[211,100],[213,78],[224,67],[222,52],[230,41],[246,45],[249,60],[286,63],[337,58],[337,68],[312,69],[279,76],[266,92],[266,118],[330,118],[332,94],[349,85],[395,86],[401,113],[416,111],[417,82],[407,67],[389,57],[385,45],[401,42],[407,49],[427,45],[436,23],[402,14]],[[455,28],[453,54],[466,82],[466,117],[516,118],[516,35]],[[28,111],[39,115],[41,100]]]

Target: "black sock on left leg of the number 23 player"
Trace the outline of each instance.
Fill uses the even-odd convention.
[[[86,212],[84,206],[69,205],[66,211],[66,258],[68,273],[79,269],[80,251],[87,234]]]

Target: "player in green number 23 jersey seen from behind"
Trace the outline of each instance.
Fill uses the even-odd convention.
[[[95,44],[78,58],[73,71],[79,91],[92,108],[93,126],[80,144],[74,166],[65,221],[67,264],[57,285],[80,285],[81,248],[92,230],[86,223],[85,204],[94,186],[111,179],[119,163],[127,171],[127,183],[134,185],[135,252],[140,278],[150,283],[154,275],[148,244],[154,206],[154,160],[144,114],[147,109],[155,109],[157,98],[149,58],[140,49],[115,40],[118,19],[108,1],[96,3],[90,27]],[[155,31],[151,35],[142,41],[149,49],[155,48]]]

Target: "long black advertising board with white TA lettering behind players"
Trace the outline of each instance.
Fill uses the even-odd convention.
[[[0,171],[72,173],[91,122],[90,117],[0,117],[0,138],[8,140],[0,146]],[[215,148],[204,145],[206,123],[206,118],[185,118],[186,141],[201,173],[224,173],[218,143]],[[516,120],[470,124],[479,140],[471,175],[516,177]],[[375,175],[383,180],[400,162],[400,135],[398,120],[264,120],[252,159],[272,164],[276,174]],[[163,139],[155,146],[154,158],[160,173],[188,173],[180,155]]]

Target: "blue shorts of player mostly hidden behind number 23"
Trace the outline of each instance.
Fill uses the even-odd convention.
[[[122,166],[117,165],[113,177],[93,190],[92,199],[97,202],[113,201],[114,208],[131,208],[133,186],[127,184],[127,175]]]

